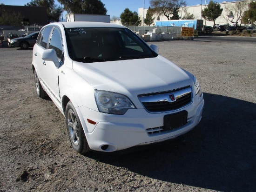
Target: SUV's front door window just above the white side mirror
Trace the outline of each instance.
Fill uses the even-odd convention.
[[[61,33],[57,28],[54,28],[54,32],[49,44],[49,49],[54,49],[56,51],[57,57],[61,59],[62,40],[61,40]]]

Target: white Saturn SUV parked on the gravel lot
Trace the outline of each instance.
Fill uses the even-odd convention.
[[[66,118],[75,151],[114,152],[173,139],[201,120],[197,79],[127,27],[44,26],[33,50],[36,93]]]

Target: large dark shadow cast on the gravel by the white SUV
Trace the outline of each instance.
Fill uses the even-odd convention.
[[[165,182],[215,191],[256,189],[256,104],[204,93],[200,124],[178,139],[127,154],[88,153]]]

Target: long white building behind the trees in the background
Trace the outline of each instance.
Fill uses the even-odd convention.
[[[204,20],[204,18],[202,18],[201,13],[202,13],[202,10],[208,6],[208,4],[207,4],[208,1],[205,0],[204,4],[181,7],[179,10],[179,16],[182,18],[186,13],[190,13],[190,14],[194,15],[195,20],[200,20],[200,19]],[[223,9],[223,11],[222,11],[222,15],[216,19],[215,23],[219,24],[219,25],[222,25],[222,24],[233,25],[233,23],[231,23],[230,20],[232,20],[234,17],[234,21],[236,21],[238,10],[242,9],[242,12],[248,10],[248,5],[251,1],[255,1],[255,0],[241,0],[241,1],[238,0],[238,1],[232,1],[232,2],[231,1],[230,2],[223,1],[222,3],[219,3],[221,5],[221,8]],[[240,3],[240,4],[238,4],[238,3]],[[144,10],[145,18],[146,18],[147,11],[148,11],[148,8]],[[143,23],[143,7],[138,9],[138,15],[141,18],[142,23]],[[164,16],[163,14],[162,15],[154,15],[154,17],[155,17],[155,21],[156,20],[168,20],[167,17]],[[240,25],[240,23],[238,23],[238,24]],[[153,25],[155,25],[155,23]],[[204,25],[213,26],[213,22],[204,20]]]

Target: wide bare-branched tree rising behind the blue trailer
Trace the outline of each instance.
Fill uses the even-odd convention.
[[[163,14],[168,20],[177,14],[180,7],[187,5],[185,0],[150,0],[149,3],[154,13]]]

